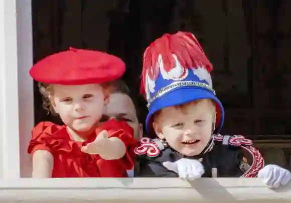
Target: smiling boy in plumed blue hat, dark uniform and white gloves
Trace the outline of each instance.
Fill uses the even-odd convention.
[[[146,129],[135,148],[144,177],[256,177],[270,187],[285,185],[289,171],[264,167],[252,141],[221,136],[223,106],[215,96],[207,59],[191,33],[165,34],[143,55],[141,92],[148,101]],[[246,158],[247,157],[247,160]],[[248,164],[247,161],[251,161]]]

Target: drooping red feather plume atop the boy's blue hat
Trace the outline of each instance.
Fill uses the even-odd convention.
[[[160,54],[163,59],[164,69],[167,72],[176,67],[176,61],[172,54],[177,56],[178,61],[184,68],[198,68],[204,65],[208,72],[211,72],[213,68],[194,35],[187,32],[177,32],[173,35],[165,34],[151,43],[143,54],[141,94],[145,93],[144,85],[147,71],[152,80],[156,80],[159,76],[158,57]]]

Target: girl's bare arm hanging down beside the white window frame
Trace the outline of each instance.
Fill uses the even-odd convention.
[[[46,150],[37,150],[33,153],[33,178],[50,178],[54,166],[53,155]]]

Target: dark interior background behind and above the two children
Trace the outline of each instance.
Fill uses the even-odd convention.
[[[70,46],[119,56],[141,121],[147,114],[138,96],[145,47],[166,32],[194,33],[214,65],[214,89],[225,107],[221,134],[289,142],[291,1],[33,0],[32,8],[34,61]],[[36,85],[35,109],[36,123],[60,122],[42,109]],[[289,147],[283,151],[289,164]]]

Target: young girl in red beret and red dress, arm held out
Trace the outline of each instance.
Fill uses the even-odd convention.
[[[32,67],[47,109],[64,123],[41,122],[32,130],[33,177],[127,177],[134,163],[132,128],[114,119],[99,124],[109,82],[124,71],[115,56],[73,48]]]

